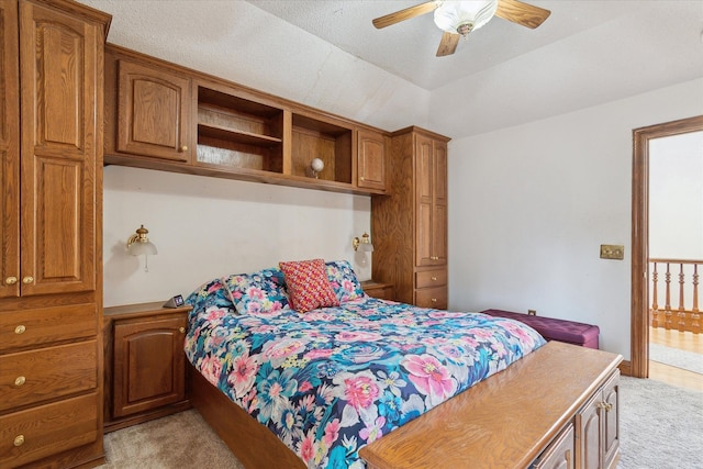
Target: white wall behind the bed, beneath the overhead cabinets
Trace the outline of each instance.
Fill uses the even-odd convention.
[[[166,301],[279,260],[348,259],[370,277],[352,248],[370,232],[370,197],[109,166],[103,201],[105,306]],[[148,272],[126,254],[141,224],[158,248]]]

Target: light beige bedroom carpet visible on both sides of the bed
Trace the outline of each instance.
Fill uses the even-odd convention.
[[[623,377],[617,469],[703,468],[703,393]],[[105,435],[102,469],[244,469],[200,414],[186,411]]]

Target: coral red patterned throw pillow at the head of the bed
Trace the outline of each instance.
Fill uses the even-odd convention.
[[[323,259],[278,264],[286,277],[286,288],[293,310],[304,313],[316,308],[338,306]]]

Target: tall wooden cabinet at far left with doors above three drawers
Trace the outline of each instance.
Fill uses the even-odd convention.
[[[110,16],[65,0],[0,15],[0,467],[96,465]]]

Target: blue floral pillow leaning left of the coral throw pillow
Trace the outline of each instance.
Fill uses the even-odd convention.
[[[286,280],[279,268],[223,278],[239,314],[277,315],[289,310]]]

